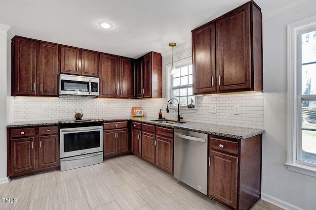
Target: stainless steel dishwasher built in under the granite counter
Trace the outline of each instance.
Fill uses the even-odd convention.
[[[206,195],[207,134],[174,129],[173,177]]]

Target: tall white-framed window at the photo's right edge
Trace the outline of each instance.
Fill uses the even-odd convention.
[[[316,177],[316,16],[288,25],[289,170]]]

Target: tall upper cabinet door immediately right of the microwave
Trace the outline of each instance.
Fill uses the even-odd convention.
[[[118,98],[119,57],[100,54],[99,96]]]

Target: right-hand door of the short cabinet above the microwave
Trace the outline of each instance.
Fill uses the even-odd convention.
[[[99,77],[99,53],[82,50],[81,65],[82,76]]]

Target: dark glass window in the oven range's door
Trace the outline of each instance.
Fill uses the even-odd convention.
[[[100,131],[64,134],[64,152],[100,147]]]

